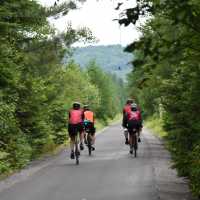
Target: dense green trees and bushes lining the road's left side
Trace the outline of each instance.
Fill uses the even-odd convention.
[[[114,109],[100,114],[100,108],[109,110],[112,98],[121,98],[116,93],[118,80],[96,68],[107,81],[104,93],[95,82],[98,73],[83,71],[75,63],[62,65],[70,44],[93,39],[87,29],[76,31],[69,25],[58,35],[50,27],[48,16],[64,15],[72,7],[0,1],[0,174],[62,144],[73,101],[91,104],[104,121],[117,113]],[[120,107],[120,102],[113,103]]]

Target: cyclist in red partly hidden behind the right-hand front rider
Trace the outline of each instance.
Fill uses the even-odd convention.
[[[124,106],[123,108],[123,118],[122,118],[122,127],[124,128],[124,136],[125,136],[125,144],[129,144],[129,141],[128,141],[128,133],[127,133],[127,113],[128,112],[131,112],[131,104],[133,103],[133,100],[132,99],[128,99],[126,101],[126,105]]]

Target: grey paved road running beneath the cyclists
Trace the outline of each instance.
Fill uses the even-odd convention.
[[[92,157],[76,166],[69,150],[0,182],[0,200],[187,200],[187,183],[170,169],[162,142],[144,130],[138,158],[128,153],[122,129],[97,136]]]

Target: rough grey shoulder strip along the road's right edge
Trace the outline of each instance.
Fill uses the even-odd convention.
[[[165,148],[164,140],[144,128],[143,136],[151,151],[153,173],[158,199],[162,200],[192,200],[188,187],[188,179],[179,177],[176,169],[172,168],[170,152]]]

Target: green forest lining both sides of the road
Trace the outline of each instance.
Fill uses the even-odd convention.
[[[69,24],[58,33],[49,24],[49,17],[71,9],[73,2],[46,8],[36,1],[0,1],[0,174],[63,144],[74,101],[90,104],[106,124],[128,91],[145,119],[161,123],[174,167],[200,197],[199,0],[136,0],[124,12],[124,26],[146,18],[138,27],[141,37],[125,48],[134,58],[128,86],[94,60],[82,68],[71,59],[73,43],[94,40],[87,28]]]

